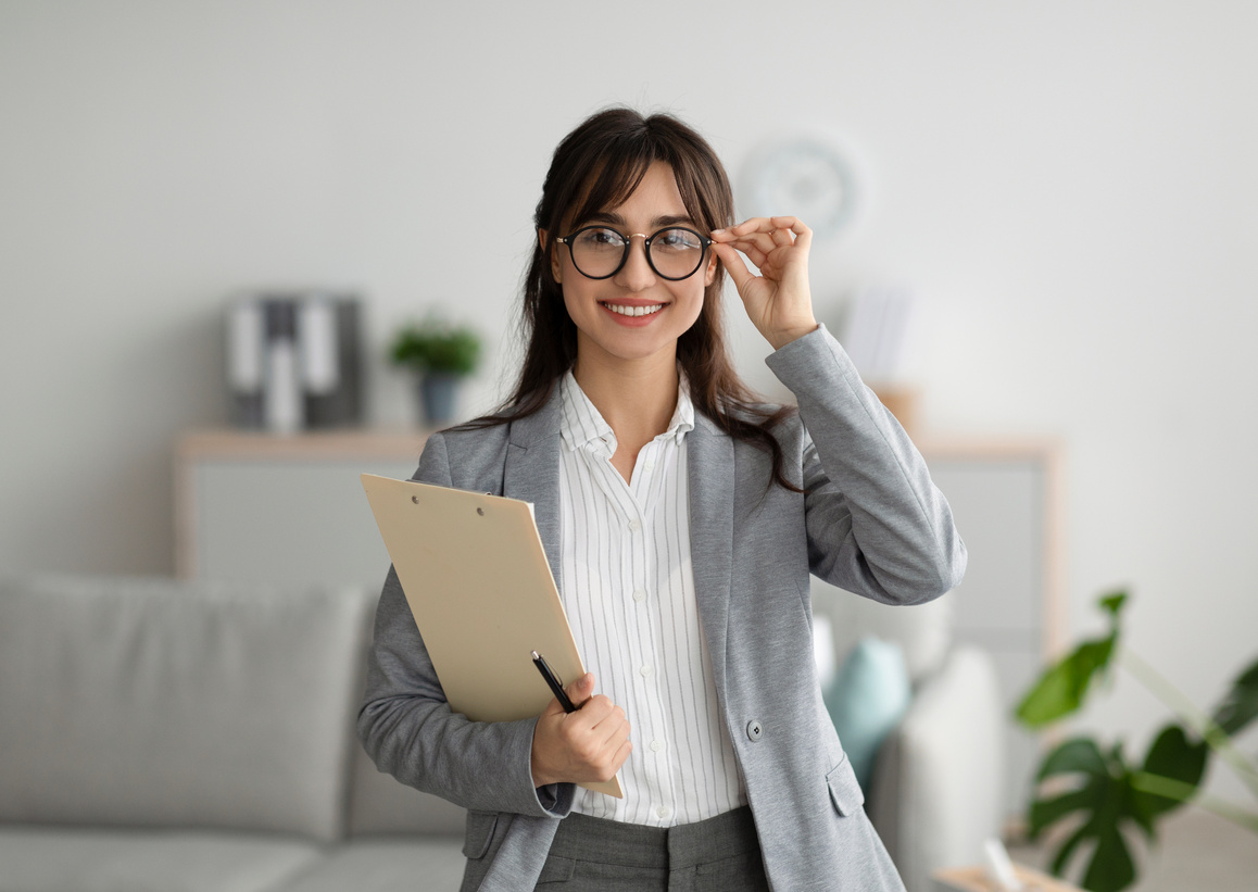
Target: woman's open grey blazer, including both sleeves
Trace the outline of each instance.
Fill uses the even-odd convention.
[[[960,581],[965,546],[921,455],[824,328],[767,362],[799,400],[776,435],[804,494],[770,487],[769,454],[708,418],[686,437],[694,586],[721,717],[772,888],[902,892],[821,702],[809,572],[917,604]],[[552,396],[511,424],[435,434],[415,479],[533,502],[559,580],[559,430]],[[381,771],[468,809],[464,889],[533,888],[571,809],[571,784],[533,788],[535,725],[449,708],[390,571],[359,735]]]

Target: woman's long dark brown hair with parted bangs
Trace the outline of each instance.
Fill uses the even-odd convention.
[[[643,117],[630,108],[609,108],[569,133],[551,161],[533,224],[547,233],[533,247],[525,276],[521,335],[527,343],[520,377],[503,406],[462,428],[484,428],[532,415],[546,405],[555,382],[576,362],[576,325],[555,281],[551,252],[565,220],[572,225],[624,203],[652,164],[667,164],[682,203],[704,231],[733,225],[733,194],[725,167],[707,141],[671,114]],[[694,408],[735,439],[767,450],[774,481],[799,491],[782,473],[782,450],[772,428],[793,409],[766,406],[733,369],[725,341],[721,291],[725,269],[717,262],[703,292],[698,320],[677,341]]]

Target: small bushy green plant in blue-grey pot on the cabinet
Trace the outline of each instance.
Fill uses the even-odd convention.
[[[419,375],[424,424],[437,428],[454,418],[455,391],[459,381],[476,371],[481,338],[472,328],[430,316],[399,328],[389,356]]]

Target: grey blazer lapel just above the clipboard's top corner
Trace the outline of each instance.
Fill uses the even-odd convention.
[[[560,395],[556,386],[538,411],[511,423],[502,494],[533,503],[533,517],[555,585],[559,570],[559,447]]]

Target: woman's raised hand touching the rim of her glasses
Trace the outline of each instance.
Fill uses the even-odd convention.
[[[712,233],[712,250],[730,270],[751,322],[774,350],[816,330],[808,287],[811,243],[813,230],[794,216],[754,216]],[[760,276],[747,269],[740,252]]]

